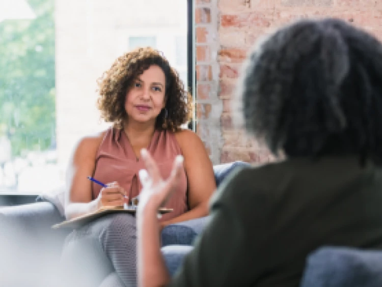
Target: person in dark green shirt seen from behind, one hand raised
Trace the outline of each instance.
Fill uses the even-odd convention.
[[[257,45],[239,95],[245,128],[279,160],[239,169],[217,190],[170,278],[154,211],[181,160],[162,180],[144,151],[141,287],[299,286],[320,246],[382,249],[382,44],[342,20],[297,21]]]

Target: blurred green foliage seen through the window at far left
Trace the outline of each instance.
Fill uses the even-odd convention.
[[[54,0],[29,0],[33,20],[0,22],[0,136],[12,154],[56,145]]]

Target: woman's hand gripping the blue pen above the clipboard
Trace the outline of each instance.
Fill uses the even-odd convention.
[[[126,191],[119,186],[118,182],[108,183],[103,187],[97,197],[98,208],[105,206],[123,206]]]

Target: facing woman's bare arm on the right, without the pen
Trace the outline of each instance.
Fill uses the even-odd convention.
[[[161,222],[161,227],[208,215],[209,199],[216,189],[212,163],[199,136],[193,131],[182,130],[176,133],[176,139],[184,157],[190,210]]]

